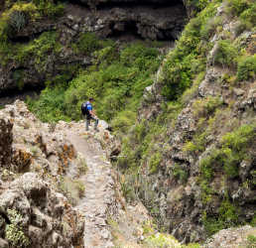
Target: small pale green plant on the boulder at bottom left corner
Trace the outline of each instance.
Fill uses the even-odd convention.
[[[16,211],[7,209],[8,217],[11,224],[7,224],[5,228],[5,238],[10,241],[11,247],[26,247],[29,239],[25,236],[22,228],[22,216]]]

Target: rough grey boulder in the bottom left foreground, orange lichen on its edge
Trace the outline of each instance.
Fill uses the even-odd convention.
[[[80,246],[84,228],[82,214],[36,174],[23,175],[0,195],[2,226],[10,224],[8,210],[17,211],[17,216],[22,217],[17,226],[29,240],[26,247],[83,247]],[[4,229],[1,237],[4,237]],[[10,240],[11,244],[13,242]]]

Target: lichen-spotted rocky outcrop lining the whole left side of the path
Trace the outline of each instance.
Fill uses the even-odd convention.
[[[78,201],[72,182],[86,168],[73,145],[19,100],[0,116],[1,247],[83,247],[84,217],[70,202]]]

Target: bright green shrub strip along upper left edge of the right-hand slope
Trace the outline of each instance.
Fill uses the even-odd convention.
[[[163,95],[169,99],[178,99],[192,85],[198,73],[205,70],[205,53],[212,45],[201,40],[201,35],[208,37],[213,30],[205,29],[205,24],[211,22],[216,11],[213,1],[198,16],[191,20],[183,32],[183,36],[170,53],[162,66],[161,80],[164,82]],[[218,23],[218,22],[217,22]],[[209,25],[211,26],[211,25]]]

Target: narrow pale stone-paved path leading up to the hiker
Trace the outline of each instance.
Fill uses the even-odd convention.
[[[104,151],[97,141],[85,140],[77,132],[67,132],[66,136],[76,151],[85,156],[88,166],[80,179],[85,194],[76,205],[85,215],[84,247],[114,247],[106,216],[108,204],[114,202],[110,163],[104,160]]]

